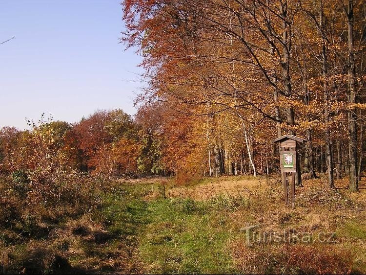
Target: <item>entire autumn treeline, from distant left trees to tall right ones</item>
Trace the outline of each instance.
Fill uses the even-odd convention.
[[[73,125],[2,128],[2,174],[43,171],[41,181],[50,183],[58,171],[185,182],[270,174],[279,171],[272,140],[290,133],[308,140],[298,154],[302,172],[326,172],[329,187],[346,176],[358,189],[366,146],[365,1],[122,5],[122,41],[140,47],[150,83],[136,117],[98,111]]]

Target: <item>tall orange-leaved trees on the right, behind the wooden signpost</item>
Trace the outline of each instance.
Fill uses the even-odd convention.
[[[328,186],[364,169],[364,0],[124,0],[122,42],[138,46],[164,165],[184,175],[271,173],[285,134]],[[153,115],[151,115],[153,114]],[[299,176],[299,173],[298,173]],[[301,184],[301,177],[297,177]]]

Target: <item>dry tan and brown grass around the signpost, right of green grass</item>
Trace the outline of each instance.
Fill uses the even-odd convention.
[[[347,274],[366,271],[366,181],[360,182],[360,192],[350,193],[347,179],[336,181],[337,189],[329,190],[326,180],[304,180],[296,189],[296,208],[284,205],[280,179],[219,179],[201,185],[173,187],[171,197],[212,200],[218,196],[243,196],[247,207],[229,214],[231,230],[261,224],[259,232],[297,233],[312,236],[335,232],[334,244],[319,242],[303,244],[265,244],[256,248],[235,239],[229,251],[237,267],[244,273]]]

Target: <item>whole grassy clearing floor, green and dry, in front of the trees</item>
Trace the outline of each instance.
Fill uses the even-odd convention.
[[[69,274],[365,273],[365,179],[353,194],[346,179],[336,190],[325,178],[303,184],[290,209],[279,177],[181,186],[162,177],[121,179],[96,213],[70,219],[13,254],[46,247]],[[243,229],[253,225],[248,242]],[[286,238],[273,241],[271,234]]]

